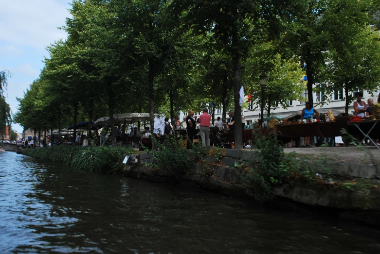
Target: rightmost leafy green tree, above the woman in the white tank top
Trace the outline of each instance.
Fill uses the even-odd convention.
[[[354,91],[374,92],[380,87],[380,37],[371,28],[353,34],[340,47],[329,52],[326,64],[326,82],[321,88],[327,95],[344,89],[345,111],[354,101]]]

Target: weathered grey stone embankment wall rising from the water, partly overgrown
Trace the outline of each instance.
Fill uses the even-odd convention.
[[[240,169],[230,168],[229,165],[235,164],[239,160],[254,160],[254,152],[238,151],[231,149],[220,149],[217,152],[222,153],[222,163],[213,165],[213,172],[210,176],[197,174],[187,174],[182,176],[172,175],[165,170],[156,170],[144,166],[145,163],[153,163],[153,158],[149,153],[140,155],[140,166],[124,165],[121,169],[128,177],[146,179],[156,183],[179,184],[186,187],[201,187],[224,195],[236,198],[250,198],[247,195],[247,188],[243,184],[243,173]],[[213,153],[213,152],[211,152]],[[215,154],[215,152],[214,152]],[[137,158],[137,154],[132,155],[132,159]],[[210,156],[210,161],[216,161],[215,156]],[[227,166],[228,165],[228,166]],[[331,166],[331,165],[330,165]],[[200,167],[196,165],[195,167]],[[196,170],[193,170],[196,171]],[[375,166],[363,168],[362,165],[354,163],[336,163],[332,165],[331,172],[344,177],[361,177],[373,179],[378,177]],[[350,191],[345,189],[328,189],[322,186],[293,186],[284,188],[278,186],[274,188],[278,204],[284,204],[284,201],[292,200],[295,203],[302,203],[315,208],[331,208],[334,213],[338,211],[342,219],[364,221],[370,224],[380,225],[380,193],[374,198],[373,195],[367,196],[360,191]],[[299,207],[294,205],[285,205],[287,208],[297,210]],[[310,208],[310,207],[309,207]]]

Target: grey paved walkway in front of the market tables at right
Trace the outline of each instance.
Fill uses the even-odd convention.
[[[298,147],[284,148],[284,152],[296,152],[300,156],[310,155],[315,158],[328,156],[331,160],[339,162],[352,162],[362,164],[373,164],[370,154],[377,163],[380,163],[380,150],[375,146],[364,146],[363,149],[357,147]]]

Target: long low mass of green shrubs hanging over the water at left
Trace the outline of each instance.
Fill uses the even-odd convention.
[[[115,173],[120,169],[125,155],[133,151],[113,146],[54,146],[26,149],[22,153],[79,169]]]

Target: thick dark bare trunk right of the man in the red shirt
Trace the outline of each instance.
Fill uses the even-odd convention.
[[[237,12],[237,9],[235,10]],[[235,149],[243,149],[243,136],[241,131],[241,106],[240,102],[240,52],[239,52],[239,38],[237,34],[237,24],[236,21],[233,23],[232,28],[232,63],[233,63],[233,74],[234,74],[234,105],[235,105]]]

